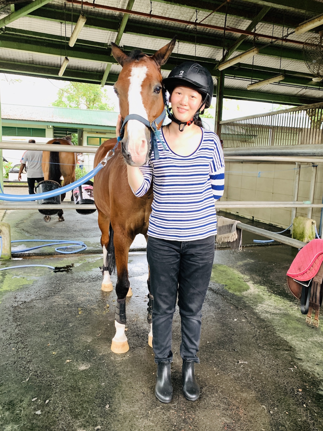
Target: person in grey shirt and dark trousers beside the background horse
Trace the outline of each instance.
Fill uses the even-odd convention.
[[[34,139],[29,139],[29,144],[36,144]],[[42,151],[27,150],[21,159],[21,165],[19,169],[18,179],[21,181],[21,174],[27,164],[27,182],[29,194],[34,194],[35,181],[37,184],[44,180],[43,169],[41,168],[41,162],[43,159]]]

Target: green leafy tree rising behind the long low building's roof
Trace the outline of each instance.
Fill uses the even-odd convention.
[[[65,87],[58,91],[53,106],[99,109],[101,111],[113,111],[115,109],[105,88],[85,82],[68,82]]]

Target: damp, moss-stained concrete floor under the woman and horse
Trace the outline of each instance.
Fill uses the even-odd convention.
[[[1,430],[323,429],[322,327],[305,324],[286,287],[297,250],[271,245],[216,251],[196,365],[201,397],[192,403],[181,393],[177,309],[174,398],[165,405],[154,395],[156,366],[147,344],[145,252],[129,256],[130,350],[115,355],[110,344],[116,296],[100,290],[96,214],[65,215],[65,222],[54,217],[48,224],[33,211],[8,211],[3,219],[11,224],[12,239],[81,239],[92,251],[10,262],[63,272],[0,272]]]

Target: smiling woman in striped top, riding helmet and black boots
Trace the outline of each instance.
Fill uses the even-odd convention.
[[[128,182],[138,197],[153,181],[147,260],[150,269],[153,349],[157,366],[155,394],[169,403],[171,327],[178,294],[183,358],[183,394],[199,398],[194,375],[199,363],[201,309],[214,259],[217,219],[214,201],[224,191],[224,159],[216,134],[202,128],[199,113],[211,104],[213,80],[198,63],[184,62],[163,80],[170,94],[171,123],[158,140],[160,158],[152,152],[140,168],[127,166]]]

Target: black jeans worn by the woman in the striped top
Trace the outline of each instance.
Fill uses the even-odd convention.
[[[183,361],[199,363],[202,305],[214,259],[214,235],[195,241],[170,241],[148,237],[147,260],[150,287],[154,297],[152,310],[152,346],[155,362],[173,359],[171,327],[176,307],[180,309]]]

